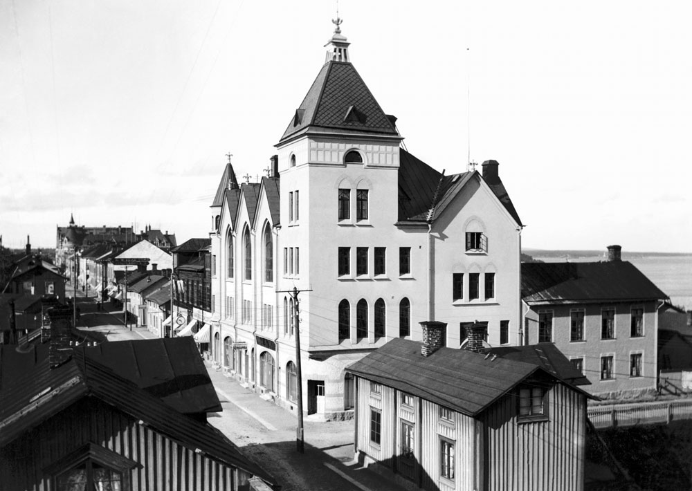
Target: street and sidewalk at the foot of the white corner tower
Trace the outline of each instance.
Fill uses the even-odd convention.
[[[304,454],[296,450],[298,418],[260,398],[206,362],[224,407],[209,422],[264,467],[282,490],[401,491],[390,479],[353,461],[354,421],[304,422]],[[228,420],[224,420],[228,419]],[[249,442],[249,443],[246,443]]]

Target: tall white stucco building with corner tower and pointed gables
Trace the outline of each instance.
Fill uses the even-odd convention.
[[[522,225],[498,163],[444,176],[402,149],[348,45],[337,27],[271,176],[238,185],[228,163],[212,204],[215,359],[295,410],[296,288],[303,407],[327,417],[352,408],[345,367],[421,340],[419,322],[446,322],[451,347],[474,321],[521,342]]]

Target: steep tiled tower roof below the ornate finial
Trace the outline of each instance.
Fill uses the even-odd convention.
[[[355,109],[356,118],[347,118]],[[367,131],[399,136],[350,63],[328,62],[296,111],[281,140],[307,127]]]

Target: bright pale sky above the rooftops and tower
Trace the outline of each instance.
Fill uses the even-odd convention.
[[[415,156],[494,159],[540,249],[692,252],[692,3],[341,0],[349,55]],[[0,234],[208,237],[325,61],[336,1],[0,0]],[[479,167],[480,170],[480,167]]]

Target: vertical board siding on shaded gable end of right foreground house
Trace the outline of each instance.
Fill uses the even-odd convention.
[[[548,421],[518,423],[516,393],[484,413],[489,490],[583,488],[585,397],[556,384],[548,401]]]

